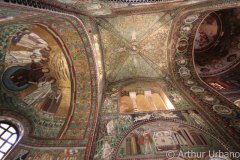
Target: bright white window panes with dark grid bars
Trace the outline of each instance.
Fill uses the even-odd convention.
[[[0,122],[0,160],[15,146],[18,139],[18,131],[13,125]]]

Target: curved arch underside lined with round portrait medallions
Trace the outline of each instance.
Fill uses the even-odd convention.
[[[233,8],[239,5],[239,2],[232,2],[228,5],[221,3],[213,4],[210,7],[208,6],[208,8],[204,5],[196,5],[186,9],[173,22],[172,43],[170,43],[172,45],[169,47],[171,49],[168,57],[171,74],[178,87],[187,97],[195,100],[196,109],[200,113],[207,115],[208,119],[219,130],[227,132],[230,137],[234,137],[228,138],[234,144],[233,149],[239,148],[239,127],[236,127],[236,124],[240,121],[238,118],[239,109],[220,94],[210,89],[198,77],[193,62],[193,46],[198,26],[207,15],[219,8]],[[223,108],[229,112],[223,112],[221,110]],[[220,133],[223,133],[222,131]]]

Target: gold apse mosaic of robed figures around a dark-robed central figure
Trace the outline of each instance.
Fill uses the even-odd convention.
[[[55,60],[55,56],[59,59]],[[63,96],[69,97],[70,75],[64,55],[50,33],[38,25],[17,32],[3,63],[4,88],[46,115],[64,116],[59,110],[70,103],[67,99],[61,102]],[[57,64],[60,70],[55,68]]]

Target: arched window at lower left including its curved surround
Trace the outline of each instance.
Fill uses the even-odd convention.
[[[0,159],[4,159],[24,134],[22,124],[10,117],[0,116]]]

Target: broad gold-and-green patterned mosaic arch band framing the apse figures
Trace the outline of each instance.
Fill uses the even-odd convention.
[[[18,14],[21,14],[20,10],[18,11]],[[61,128],[58,127],[61,130],[56,137],[46,140],[44,135],[32,135],[29,137],[29,139],[23,141],[23,143],[29,145],[38,145],[39,142],[41,145],[45,146],[52,146],[55,143],[61,143],[62,146],[65,146],[66,144],[70,144],[71,146],[86,146],[87,143],[91,144],[92,139],[90,138],[88,141],[88,138],[95,129],[95,119],[98,111],[96,101],[97,77],[95,77],[95,60],[92,55],[91,44],[89,42],[89,37],[86,34],[86,29],[79,19],[74,18],[73,16],[70,17],[52,13],[49,14],[51,17],[48,17],[47,19],[44,18],[44,20],[41,19],[41,17],[38,19],[32,19],[30,20],[31,23],[29,24],[41,24],[42,26],[45,26],[45,28],[47,27],[53,33],[58,35],[56,39],[61,41],[61,44],[64,44],[64,48],[66,48],[64,51],[67,53],[67,57],[72,63],[70,65],[71,70],[75,71],[74,74],[76,76],[76,79],[74,79],[72,82],[72,108],[70,111],[68,111],[70,115],[68,115],[68,118],[63,126]],[[18,24],[19,23],[20,22],[18,22]],[[28,23],[27,20],[24,21],[23,25],[26,23]],[[55,27],[56,25],[59,25],[60,27]],[[9,26],[11,26],[11,24],[9,24]],[[79,45],[74,46],[75,41],[73,42],[71,39],[78,41]],[[86,91],[85,94],[82,92],[83,90]],[[78,97],[77,100],[76,97]],[[82,112],[83,110],[84,112]],[[78,117],[83,118],[79,119]],[[71,121],[73,119],[75,120]],[[92,129],[88,129],[89,126],[91,126]],[[49,126],[44,127],[48,128]],[[51,127],[49,127],[49,129],[50,128]],[[77,134],[72,135],[71,133],[73,132],[77,132]],[[91,137],[93,138],[92,135]]]

